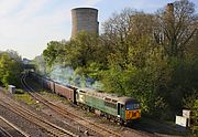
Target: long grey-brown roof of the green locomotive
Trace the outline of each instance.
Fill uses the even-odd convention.
[[[81,91],[86,94],[89,94],[89,95],[92,95],[92,96],[96,96],[96,97],[99,97],[99,98],[103,98],[103,99],[107,99],[107,101],[110,101],[110,102],[119,102],[121,104],[125,104],[125,103],[136,103],[138,101],[132,98],[132,97],[127,97],[127,96],[122,96],[122,97],[119,97],[114,94],[108,94],[108,93],[101,93],[99,91],[96,91],[96,89],[91,89],[91,88],[78,88],[78,91]]]

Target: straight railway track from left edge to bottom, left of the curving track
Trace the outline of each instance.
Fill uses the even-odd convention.
[[[53,137],[78,137],[76,134],[73,134],[62,127],[58,127],[43,117],[37,116],[33,112],[22,107],[21,105],[9,101],[0,101],[0,105],[10,109],[11,112],[18,114],[19,116],[23,117],[24,119],[35,124],[36,126],[41,127],[43,130],[47,133],[48,136]]]

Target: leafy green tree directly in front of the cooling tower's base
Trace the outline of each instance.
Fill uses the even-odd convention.
[[[74,68],[87,66],[99,57],[98,36],[81,32],[65,46],[65,52],[68,65]]]

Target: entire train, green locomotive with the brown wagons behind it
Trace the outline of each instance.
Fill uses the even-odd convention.
[[[36,73],[30,73],[30,76],[42,84],[43,87],[64,96],[73,104],[112,119],[118,124],[125,125],[141,117],[140,103],[132,97],[118,97],[90,88],[62,85]]]

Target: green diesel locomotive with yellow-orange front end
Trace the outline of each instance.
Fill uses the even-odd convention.
[[[76,101],[78,104],[100,110],[102,115],[118,123],[127,124],[141,117],[140,104],[131,97],[118,97],[89,88],[78,88]]]

